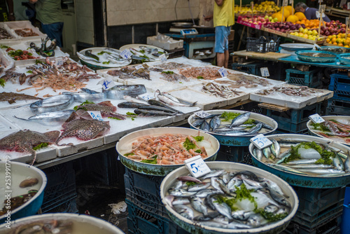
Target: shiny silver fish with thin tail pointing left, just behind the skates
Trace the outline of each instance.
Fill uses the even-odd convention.
[[[13,116],[13,117],[23,121],[34,121],[42,125],[57,125],[57,124],[62,125],[62,123],[66,121],[66,119],[69,118],[69,116],[71,116],[71,113],[73,112],[74,112],[73,110],[43,112],[43,113],[38,113],[35,116],[30,116],[28,119],[19,118],[17,116]]]

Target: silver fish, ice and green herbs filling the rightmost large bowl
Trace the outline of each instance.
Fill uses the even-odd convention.
[[[272,139],[271,146],[262,150],[255,147],[253,155],[271,167],[296,174],[334,177],[350,172],[349,152],[302,139],[293,142]]]

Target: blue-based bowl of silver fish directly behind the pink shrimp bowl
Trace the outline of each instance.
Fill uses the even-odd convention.
[[[251,137],[272,134],[278,123],[259,113],[237,110],[206,111],[209,116],[188,118],[191,128],[208,132],[225,146],[248,146]]]

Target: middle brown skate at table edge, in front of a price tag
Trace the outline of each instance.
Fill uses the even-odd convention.
[[[59,145],[59,141],[66,137],[76,137],[83,141],[94,139],[99,135],[104,135],[111,128],[109,121],[80,119],[76,113],[72,113],[66,122],[62,124],[62,127],[63,132],[56,141],[57,145]],[[59,146],[62,145],[65,144]]]

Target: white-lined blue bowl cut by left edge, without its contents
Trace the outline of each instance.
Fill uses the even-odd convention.
[[[8,172],[6,174],[6,172]],[[10,176],[10,177],[6,177]],[[25,202],[20,207],[17,207],[10,212],[10,220],[20,219],[25,216],[33,215],[38,212],[41,205],[43,204],[43,191],[45,189],[47,179],[45,173],[36,167],[27,165],[25,163],[18,163],[12,161],[2,161],[0,162],[0,177],[1,177],[1,188],[0,196],[1,200],[5,200],[6,191],[10,190],[11,198],[18,195],[27,194],[29,190],[35,189],[38,192],[29,201]],[[9,184],[6,184],[6,179],[10,178],[10,189],[6,188]],[[38,179],[38,184],[34,186],[29,186],[27,188],[20,188],[20,183],[29,178]],[[2,208],[2,207],[1,207]],[[3,223],[8,219],[6,214],[0,216],[0,221]],[[1,232],[0,232],[1,233]]]

